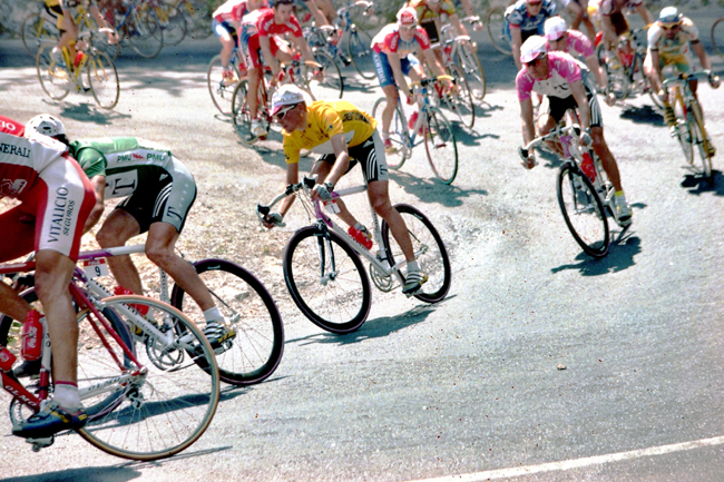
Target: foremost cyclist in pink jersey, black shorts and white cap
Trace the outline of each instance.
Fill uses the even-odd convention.
[[[524,142],[527,145],[536,137],[531,91],[547,96],[549,102],[548,111],[542,112],[538,118],[539,132],[549,132],[554,129],[566,110],[578,109],[583,128],[581,142],[587,144],[588,136],[593,139],[594,150],[616,189],[616,218],[623,226],[629,225],[632,210],[624,196],[618,165],[604,139],[604,122],[589,76],[586,71],[581,71],[578,62],[568,53],[547,52],[546,39],[539,36],[532,36],[524,42],[520,60],[524,68],[518,72],[516,87],[522,117]],[[535,165],[531,150],[525,167],[531,169]]]

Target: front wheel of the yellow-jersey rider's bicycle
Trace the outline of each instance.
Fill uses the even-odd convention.
[[[332,247],[331,254],[325,239]],[[331,256],[336,274],[322,282],[322,269],[327,273]],[[364,266],[354,249],[335,233],[326,230],[325,235],[317,226],[299,229],[284,252],[284,281],[302,314],[327,332],[354,332],[370,314],[372,299]]]

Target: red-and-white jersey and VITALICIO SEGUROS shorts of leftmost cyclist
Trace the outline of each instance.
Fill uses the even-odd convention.
[[[62,144],[21,137],[25,126],[0,116],[0,197],[21,204],[0,214],[0,262],[31,250],[78,257],[86,218],[95,204],[88,177]]]

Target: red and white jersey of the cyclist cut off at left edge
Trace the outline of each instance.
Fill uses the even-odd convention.
[[[0,116],[0,197],[22,198],[53,161],[68,156],[68,148],[50,137],[21,137],[25,126]]]

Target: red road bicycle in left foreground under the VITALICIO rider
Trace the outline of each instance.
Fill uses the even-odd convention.
[[[6,264],[0,275],[33,269],[32,260]],[[104,452],[131,460],[167,458],[193,444],[208,427],[219,399],[218,366],[204,334],[165,303],[95,289],[78,267],[69,289],[80,332],[78,392],[88,414],[78,434]],[[37,307],[35,288],[21,296]],[[7,315],[0,318],[2,346],[9,345],[12,323]],[[129,327],[153,343],[137,343]],[[2,387],[12,395],[13,424],[38,413],[53,391],[47,324],[43,332],[38,377],[0,372]],[[35,451],[53,441],[28,439]]]

